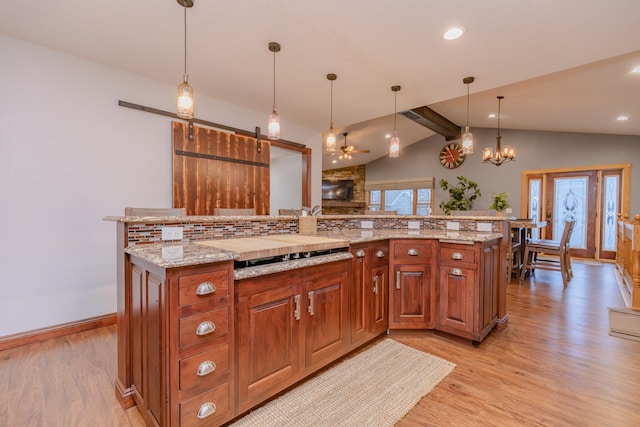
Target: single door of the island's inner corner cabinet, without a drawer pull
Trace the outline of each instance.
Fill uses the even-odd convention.
[[[435,326],[434,283],[431,267],[425,264],[395,266],[390,288],[390,328],[430,329]]]

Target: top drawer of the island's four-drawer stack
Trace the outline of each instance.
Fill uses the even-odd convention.
[[[229,270],[182,276],[178,288],[178,305],[181,306],[228,296]]]

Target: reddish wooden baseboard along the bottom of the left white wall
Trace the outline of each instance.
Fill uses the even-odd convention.
[[[112,313],[75,322],[63,323],[61,325],[50,326],[47,328],[35,329],[33,331],[22,332],[19,334],[7,335],[0,337],[0,351],[45,341],[51,338],[58,338],[76,332],[89,331],[103,326],[114,325],[116,320],[116,314]]]

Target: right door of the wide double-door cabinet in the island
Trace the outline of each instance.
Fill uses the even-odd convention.
[[[339,357],[349,346],[349,286],[347,271],[329,273],[308,282],[306,367]]]

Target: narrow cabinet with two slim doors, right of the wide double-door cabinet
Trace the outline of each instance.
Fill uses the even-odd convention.
[[[389,244],[352,245],[351,344],[357,346],[389,327]]]

